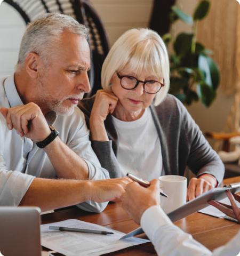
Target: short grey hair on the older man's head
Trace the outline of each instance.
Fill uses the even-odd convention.
[[[89,38],[89,30],[65,14],[44,14],[37,20],[30,22],[22,37],[16,69],[25,63],[30,52],[41,55],[43,60],[47,61],[64,30],[81,35],[86,39]]]

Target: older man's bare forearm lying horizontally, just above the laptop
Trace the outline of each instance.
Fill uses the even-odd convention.
[[[38,206],[42,211],[91,200],[89,181],[35,178],[20,206]]]

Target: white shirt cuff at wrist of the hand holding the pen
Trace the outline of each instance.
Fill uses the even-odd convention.
[[[173,225],[172,221],[167,217],[166,213],[159,205],[149,207],[142,214],[140,224],[151,241],[153,241],[154,234],[159,227]]]

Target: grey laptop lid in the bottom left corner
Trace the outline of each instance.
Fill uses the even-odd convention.
[[[38,207],[0,207],[0,255],[41,256]]]

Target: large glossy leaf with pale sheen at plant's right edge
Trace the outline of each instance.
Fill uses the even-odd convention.
[[[219,86],[220,73],[217,64],[209,56],[200,54],[198,58],[198,68],[204,74],[204,81],[206,84],[216,90]]]

